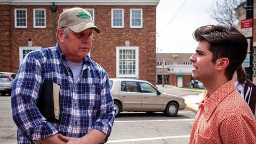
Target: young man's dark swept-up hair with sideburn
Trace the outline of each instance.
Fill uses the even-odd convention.
[[[206,40],[210,43],[213,62],[223,57],[229,59],[225,74],[228,80],[232,79],[233,74],[246,57],[248,45],[246,37],[231,26],[209,25],[197,28],[194,32],[194,38],[197,42]]]

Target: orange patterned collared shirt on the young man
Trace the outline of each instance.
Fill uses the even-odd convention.
[[[233,80],[199,103],[189,143],[256,143],[256,121]]]

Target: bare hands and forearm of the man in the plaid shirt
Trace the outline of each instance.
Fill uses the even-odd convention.
[[[69,138],[59,134],[59,138],[67,142],[67,144],[98,144],[105,140],[106,137],[107,135],[99,130],[91,130],[82,138]]]

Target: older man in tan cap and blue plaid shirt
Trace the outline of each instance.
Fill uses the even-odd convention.
[[[107,72],[87,55],[94,26],[84,9],[60,14],[56,46],[27,54],[12,87],[18,143],[106,142],[114,123],[114,102]],[[59,121],[47,122],[38,110],[45,80],[60,85]]]

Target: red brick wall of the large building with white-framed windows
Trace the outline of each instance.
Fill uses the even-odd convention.
[[[57,6],[56,27],[63,9],[74,6]],[[130,41],[130,46],[139,47],[139,78],[155,85],[156,6],[84,5],[81,7],[94,9],[94,23],[101,30],[100,34],[93,35],[92,60],[105,68],[109,77],[116,77],[116,47],[125,46],[125,41]],[[19,68],[19,47],[28,46],[29,38],[33,41],[33,46],[42,46],[42,48],[53,46],[53,13],[51,5],[1,5],[0,8],[2,21],[0,56],[4,61],[0,64],[0,71],[16,73]],[[27,28],[14,27],[14,9],[17,8],[27,9]],[[46,28],[33,28],[33,9],[46,9]],[[111,28],[111,9],[124,9],[124,28]],[[130,28],[130,9],[143,9],[143,28]],[[2,27],[4,24],[6,26]]]

